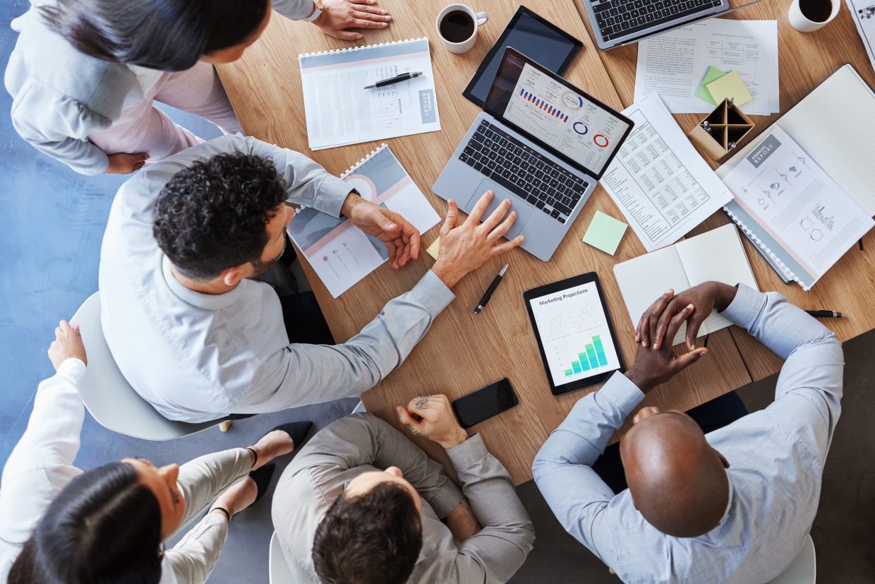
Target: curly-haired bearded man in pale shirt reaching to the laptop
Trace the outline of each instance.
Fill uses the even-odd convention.
[[[119,189],[100,265],[102,327],[123,375],[169,419],[201,422],[357,396],[401,365],[454,298],[451,287],[522,237],[498,243],[510,201],[480,224],[492,192],[456,226],[450,204],[440,259],[342,345],[290,343],[276,292],[259,274],[283,253],[286,200],[349,217],[398,268],[419,234],[364,201],[310,158],[226,136],[150,166]]]

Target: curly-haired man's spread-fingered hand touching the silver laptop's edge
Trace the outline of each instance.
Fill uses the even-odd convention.
[[[446,212],[446,221],[440,229],[440,252],[437,262],[431,267],[437,278],[440,278],[448,288],[452,288],[469,271],[474,271],[490,257],[503,254],[514,249],[523,242],[525,237],[517,236],[509,242],[498,243],[501,236],[516,220],[516,211],[507,213],[510,199],[501,201],[498,208],[486,221],[480,222],[483,212],[495,193],[486,191],[474,208],[471,215],[461,225],[458,222],[458,206],[452,199],[447,201],[450,208]],[[504,221],[501,217],[507,213]]]

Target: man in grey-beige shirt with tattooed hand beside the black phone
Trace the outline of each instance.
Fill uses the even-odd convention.
[[[339,419],[313,437],[276,485],[274,528],[293,580],[509,580],[535,531],[507,470],[479,433],[468,436],[458,426],[445,396],[416,398],[397,410],[412,433],[446,449],[462,490],[381,419]]]

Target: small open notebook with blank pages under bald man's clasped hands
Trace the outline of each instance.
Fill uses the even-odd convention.
[[[613,266],[614,278],[626,302],[632,326],[638,327],[644,313],[662,294],[671,288],[676,294],[712,280],[728,285],[742,283],[759,290],[747,262],[739,231],[729,224],[712,229],[701,236],[651,251]],[[711,334],[732,324],[716,311],[704,320],[698,336]],[[672,345],[684,341],[684,323]]]

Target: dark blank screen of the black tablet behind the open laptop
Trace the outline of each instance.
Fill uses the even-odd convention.
[[[521,13],[519,20],[507,32],[507,36],[504,37],[498,50],[495,51],[493,46],[489,52],[491,60],[485,69],[481,66],[481,70],[478,71],[479,78],[473,84],[468,85],[471,95],[479,100],[476,102],[478,105],[486,102],[486,95],[489,95],[489,88],[492,87],[493,79],[498,72],[501,57],[504,56],[504,50],[508,46],[513,46],[514,49],[540,63],[543,67],[561,75],[570,64],[569,57],[577,54],[577,51],[580,50],[580,41],[571,39],[569,35],[550,28],[526,12]],[[567,63],[566,60],[568,60]]]

